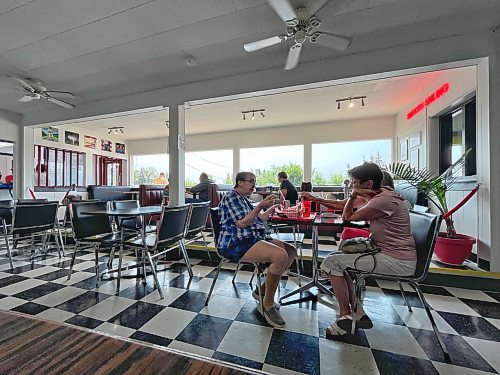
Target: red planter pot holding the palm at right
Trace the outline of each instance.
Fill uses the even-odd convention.
[[[434,254],[443,263],[461,265],[469,257],[472,245],[475,243],[474,237],[465,234],[457,234],[457,238],[448,238],[445,232],[440,232]]]

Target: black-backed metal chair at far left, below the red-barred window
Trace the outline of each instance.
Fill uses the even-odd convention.
[[[56,243],[57,251],[59,257],[61,254],[64,255],[64,248],[62,243],[59,244],[58,238],[58,219],[57,219],[57,209],[58,202],[29,202],[25,204],[15,203],[12,208],[12,222],[10,225],[10,230],[7,226],[3,228],[8,235],[12,236],[14,246],[19,240],[31,238],[31,249],[34,249],[35,238],[41,237],[42,251],[47,250],[47,242],[49,235],[53,236]],[[6,221],[4,220],[4,223]],[[7,246],[7,253],[10,253],[9,239],[5,236],[5,242]],[[62,253],[61,253],[62,249]],[[37,256],[37,252],[34,251],[31,254],[31,259]]]

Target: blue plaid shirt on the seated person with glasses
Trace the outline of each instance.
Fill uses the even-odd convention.
[[[258,216],[246,228],[236,226],[236,222],[253,209],[250,199],[240,195],[236,190],[224,195],[219,203],[220,235],[217,246],[219,249],[226,249],[245,238],[264,240],[269,237],[266,225]]]

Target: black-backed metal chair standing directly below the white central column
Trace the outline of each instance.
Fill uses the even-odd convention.
[[[182,205],[177,207],[162,207],[160,219],[156,226],[156,233],[149,234],[143,239],[128,241],[127,244],[133,247],[144,249],[147,256],[147,262],[151,266],[155,284],[163,299],[163,291],[161,290],[156,272],[156,259],[165,255],[167,252],[180,249],[189,277],[193,277],[193,270],[189,262],[184,239],[191,216],[191,205]]]

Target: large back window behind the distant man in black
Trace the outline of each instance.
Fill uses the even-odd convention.
[[[240,170],[251,171],[257,185],[278,185],[278,173],[284,171],[295,185],[304,180],[304,146],[242,148]]]

